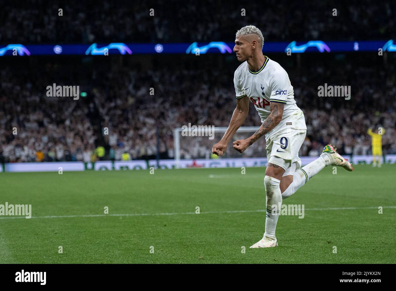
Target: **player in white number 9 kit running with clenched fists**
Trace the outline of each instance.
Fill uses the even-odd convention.
[[[328,165],[337,165],[352,171],[348,160],[336,148],[326,145],[314,162],[301,168],[298,156],[307,127],[305,117],[294,100],[293,86],[287,72],[275,61],[263,55],[264,38],[261,31],[248,25],[236,32],[234,52],[242,63],[234,73],[236,108],[230,125],[212,152],[221,156],[237,129],[244,123],[253,103],[261,118],[260,128],[249,138],[234,141],[238,152],[244,152],[257,139],[265,135],[268,165],[265,170],[266,219],[264,236],[251,248],[276,247],[275,237],[278,213],[276,205],[282,198],[293,195],[297,189]]]

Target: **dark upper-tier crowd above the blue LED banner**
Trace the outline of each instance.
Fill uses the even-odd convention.
[[[252,21],[268,41],[384,40],[395,14],[394,1],[369,0],[17,1],[0,10],[0,44],[230,41]]]

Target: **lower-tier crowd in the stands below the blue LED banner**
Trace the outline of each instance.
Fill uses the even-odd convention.
[[[318,156],[329,142],[341,154],[369,154],[367,129],[380,126],[385,129],[384,154],[396,154],[394,65],[346,64],[339,70],[337,63],[315,63],[286,70],[308,128],[300,156]],[[1,70],[0,162],[151,159],[156,156],[157,136],[160,157],[173,158],[175,127],[188,123],[227,127],[236,105],[231,70],[175,69],[169,74],[168,68],[102,71],[98,67],[89,74],[88,96],[73,100],[46,96],[53,76],[76,84],[53,68],[34,74],[28,68]],[[318,97],[323,80],[350,85],[350,100]],[[244,126],[260,125],[253,106]],[[182,158],[207,158],[210,142],[182,144]],[[263,156],[262,145],[261,151],[247,150],[243,155]],[[234,152],[232,146],[227,152]]]

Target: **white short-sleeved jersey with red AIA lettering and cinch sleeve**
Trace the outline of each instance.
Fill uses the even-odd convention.
[[[270,115],[270,102],[285,105],[282,121],[272,129],[271,134],[285,127],[307,129],[304,114],[294,100],[293,86],[290,84],[287,72],[267,56],[257,72],[252,72],[247,61],[244,61],[235,70],[234,86],[236,98],[247,95],[259,113],[261,122]]]

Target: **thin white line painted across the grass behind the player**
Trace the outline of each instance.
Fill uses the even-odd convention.
[[[383,206],[382,208],[396,208],[396,206]],[[355,210],[355,209],[378,209],[378,207],[328,207],[328,208],[306,208],[308,211],[323,210]],[[200,214],[212,213],[246,213],[246,212],[265,212],[265,209],[259,210],[230,210],[230,211],[208,211]],[[87,215],[49,215],[49,216],[32,216],[32,218],[72,218],[72,217],[103,217],[103,216],[154,216],[154,215],[184,215],[196,214],[195,212],[177,212],[177,213],[132,213],[132,214],[87,214]],[[7,216],[0,219],[26,219],[25,216]]]

